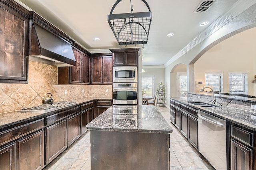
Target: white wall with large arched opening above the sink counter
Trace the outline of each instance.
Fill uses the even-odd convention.
[[[173,61],[171,64],[166,66],[165,67],[166,93],[167,94],[170,93],[170,88],[171,88],[170,72],[177,64],[183,63],[187,65],[187,68],[192,68],[192,67],[189,67],[189,64],[194,64],[197,59],[199,59],[210,48],[214,47],[214,45],[220,43],[221,41],[223,41],[224,39],[227,39],[228,37],[236,35],[237,33],[245,31],[252,27],[256,27],[256,4],[254,4],[253,6],[251,6],[244,12],[242,12],[240,15],[238,15],[236,18],[234,18],[230,22],[226,23],[226,25],[224,25],[218,31],[212,33],[212,35],[210,35],[209,37],[206,37],[206,39],[198,43],[198,45],[190,49],[187,53],[185,53],[184,55],[182,55],[181,57]],[[255,61],[253,62],[255,63]],[[254,70],[256,69],[254,68]],[[194,74],[192,75],[192,72],[190,72],[190,70],[187,69],[187,76],[190,76],[192,78],[194,77]],[[193,88],[189,88],[189,86],[191,86],[190,84],[194,86],[194,81],[188,82],[189,92],[194,92]],[[170,100],[166,100],[166,106],[170,106]]]

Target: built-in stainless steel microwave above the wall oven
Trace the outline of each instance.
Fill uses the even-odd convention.
[[[137,82],[137,67],[113,67],[113,82]]]

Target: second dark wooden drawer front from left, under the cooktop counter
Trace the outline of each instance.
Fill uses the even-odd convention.
[[[50,125],[78,112],[80,112],[80,106],[77,106],[66,111],[61,111],[59,113],[55,113],[53,115],[45,117],[45,124]]]

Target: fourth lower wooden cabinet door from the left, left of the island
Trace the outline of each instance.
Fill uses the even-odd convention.
[[[67,136],[68,146],[81,136],[80,130],[80,113],[68,118]]]

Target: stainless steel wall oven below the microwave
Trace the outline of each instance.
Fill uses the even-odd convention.
[[[137,105],[137,83],[113,83],[113,104]]]

